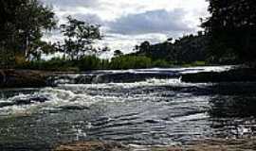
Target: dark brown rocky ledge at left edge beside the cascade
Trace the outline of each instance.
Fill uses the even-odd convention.
[[[47,86],[49,73],[31,70],[0,70],[0,88],[39,88]]]

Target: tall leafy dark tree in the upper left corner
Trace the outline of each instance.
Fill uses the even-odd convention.
[[[29,58],[40,47],[43,31],[54,25],[54,12],[38,0],[0,0],[0,51],[12,62],[17,56]]]

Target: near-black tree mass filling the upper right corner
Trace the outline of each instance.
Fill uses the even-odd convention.
[[[239,59],[256,59],[256,1],[208,0],[210,18],[202,26],[218,58],[234,54]]]

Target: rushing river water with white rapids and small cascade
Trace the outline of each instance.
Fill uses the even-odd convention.
[[[57,87],[0,91],[0,150],[74,141],[172,145],[251,137],[256,83],[184,83],[229,67],[99,71],[49,79]]]

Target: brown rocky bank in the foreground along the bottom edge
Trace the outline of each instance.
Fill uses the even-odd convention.
[[[83,142],[60,145],[54,151],[252,151],[256,139],[216,139],[182,146],[125,146],[121,143]]]

